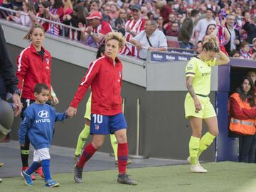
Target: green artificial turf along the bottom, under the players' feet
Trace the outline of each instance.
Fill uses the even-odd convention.
[[[137,186],[117,183],[117,171],[90,171],[83,173],[84,183],[75,183],[73,173],[54,174],[60,183],[58,188],[47,188],[37,176],[34,186],[26,186],[21,177],[4,178],[0,191],[256,191],[256,164],[219,162],[203,164],[207,174],[191,174],[188,165],[156,166],[129,169],[128,174],[138,182]]]

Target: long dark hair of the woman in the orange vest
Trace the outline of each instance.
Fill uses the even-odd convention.
[[[242,84],[245,80],[248,80],[251,86],[250,91],[248,91],[247,94],[245,94],[245,91],[243,91],[242,89]],[[242,78],[242,84],[236,89],[236,92],[238,92],[242,101],[245,101],[247,99],[248,103],[250,103],[250,106],[255,107],[255,85],[253,84],[252,79],[245,76]]]

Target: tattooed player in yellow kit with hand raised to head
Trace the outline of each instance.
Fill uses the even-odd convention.
[[[219,55],[216,58],[217,54]],[[201,153],[213,142],[218,135],[218,122],[213,105],[210,103],[210,74],[211,67],[219,64],[228,64],[229,58],[219,47],[215,35],[208,35],[203,42],[203,51],[193,57],[186,66],[186,87],[188,94],[185,99],[185,113],[192,128],[192,135],[189,141],[189,157],[191,171],[206,173],[199,164],[198,158]],[[208,128],[203,137],[202,122]]]

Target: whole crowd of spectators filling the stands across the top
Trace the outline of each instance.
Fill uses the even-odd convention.
[[[65,35],[92,47],[104,43],[105,35],[110,31],[119,30],[135,45],[124,45],[121,50],[124,55],[144,55],[139,54],[142,47],[165,51],[167,43],[168,47],[193,48],[199,53],[203,37],[213,33],[218,35],[221,49],[230,57],[256,59],[255,1],[0,0],[0,4],[18,11],[16,14],[1,11],[1,18],[23,26],[38,21],[47,33]],[[63,28],[35,16],[80,30]],[[145,25],[146,21],[153,22]],[[156,34],[161,38],[155,38]],[[144,36],[144,44],[135,44],[139,39],[135,38],[137,35],[140,39]]]

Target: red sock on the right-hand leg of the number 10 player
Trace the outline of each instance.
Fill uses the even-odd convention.
[[[118,171],[119,174],[125,174],[127,159],[128,159],[128,144],[119,143],[117,147],[117,156],[118,156]]]

